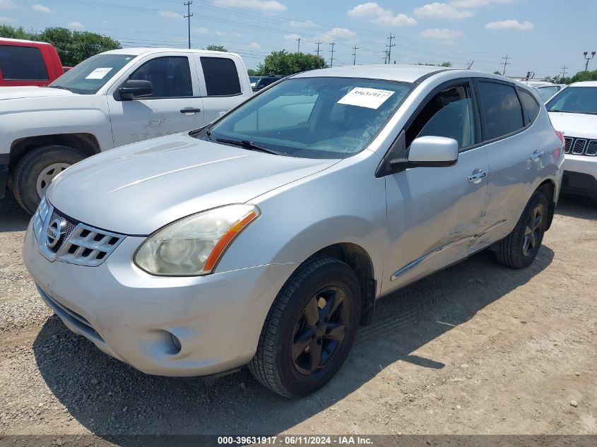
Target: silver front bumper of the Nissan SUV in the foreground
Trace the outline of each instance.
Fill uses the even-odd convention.
[[[76,266],[42,256],[30,223],[23,258],[42,299],[69,329],[140,371],[202,376],[249,362],[295,265],[162,278],[134,265],[143,240],[126,237],[100,266]]]

